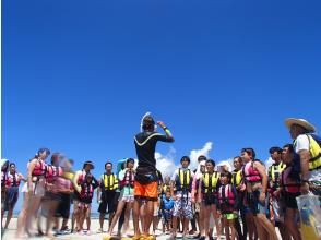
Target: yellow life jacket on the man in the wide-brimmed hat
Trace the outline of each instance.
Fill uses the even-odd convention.
[[[321,168],[321,140],[320,142],[316,139],[319,136],[316,136],[316,139],[311,134],[306,134],[309,140],[309,148],[310,148],[310,155],[311,158],[309,159],[309,171],[313,171]],[[294,145],[296,144],[296,140],[294,142]]]

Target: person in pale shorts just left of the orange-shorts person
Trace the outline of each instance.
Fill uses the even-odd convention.
[[[123,231],[126,232],[129,228],[129,215],[133,207],[133,202],[134,202],[133,191],[134,191],[135,170],[133,169],[133,167],[134,167],[134,159],[128,158],[126,161],[126,168],[119,172],[118,179],[121,187],[119,203],[117,206],[116,214],[112,218],[108,236],[104,239],[111,238],[114,227],[116,223],[118,221],[124,206],[126,206],[126,213],[124,213]]]

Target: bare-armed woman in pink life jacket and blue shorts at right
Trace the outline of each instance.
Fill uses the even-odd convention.
[[[277,240],[274,226],[266,218],[268,175],[265,167],[259,160],[254,160],[255,152],[253,148],[242,148],[241,158],[245,163],[242,175],[247,187],[245,202],[253,213],[259,239]]]

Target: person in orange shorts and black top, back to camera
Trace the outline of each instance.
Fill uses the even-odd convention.
[[[134,237],[140,239],[139,215],[142,203],[146,202],[145,220],[143,221],[143,238],[155,239],[150,236],[150,227],[153,220],[154,202],[157,201],[157,176],[156,176],[156,159],[155,147],[158,141],[174,142],[174,137],[168,128],[163,122],[157,124],[165,131],[165,135],[155,132],[155,121],[151,116],[145,116],[142,121],[142,132],[134,137],[135,149],[139,158],[134,183],[134,206],[133,206],[133,224]]]

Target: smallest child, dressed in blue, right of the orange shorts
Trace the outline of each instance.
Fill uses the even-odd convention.
[[[173,217],[174,201],[170,195],[170,191],[166,191],[165,195],[162,197],[160,209],[162,209],[162,221],[163,221],[163,232],[170,231],[171,217]]]

